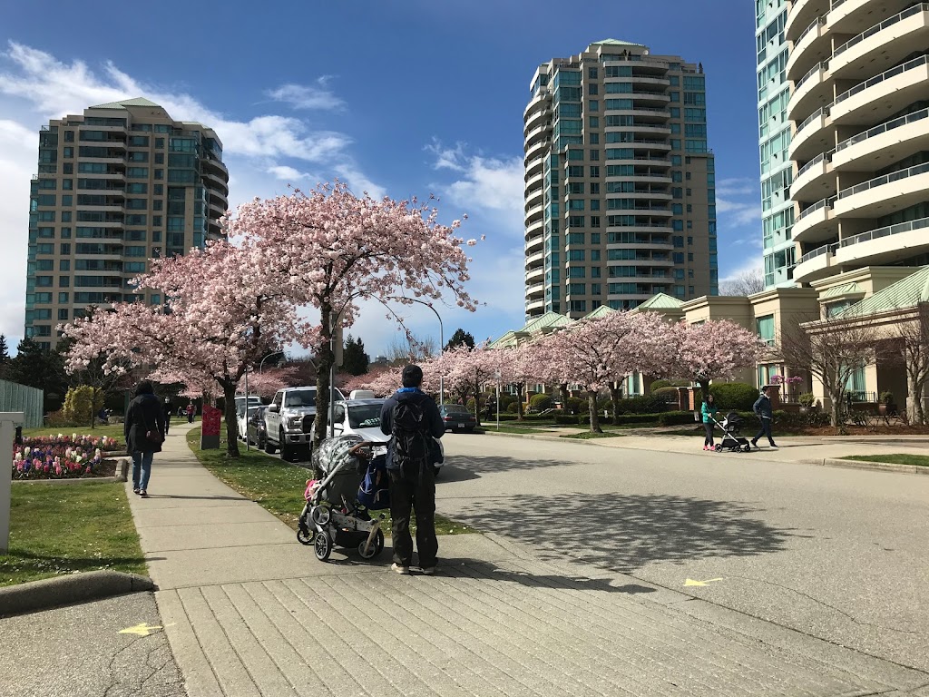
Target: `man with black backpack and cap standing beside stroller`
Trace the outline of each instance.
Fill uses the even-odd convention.
[[[436,572],[436,476],[433,473],[436,441],[445,435],[445,424],[436,402],[425,394],[423,369],[407,365],[399,388],[381,408],[381,431],[390,436],[387,444],[387,474],[390,477],[391,537],[393,571],[408,574],[412,561],[410,512],[416,514],[416,551],[423,573]]]

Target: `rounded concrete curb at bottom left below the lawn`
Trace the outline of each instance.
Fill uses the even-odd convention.
[[[0,617],[150,590],[156,590],[151,579],[137,573],[72,573],[0,588]]]

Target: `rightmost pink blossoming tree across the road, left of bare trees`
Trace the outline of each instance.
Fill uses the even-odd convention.
[[[678,322],[671,336],[673,351],[665,370],[655,375],[690,378],[700,385],[704,401],[711,380],[732,378],[739,370],[753,368],[770,351],[757,334],[729,320]]]

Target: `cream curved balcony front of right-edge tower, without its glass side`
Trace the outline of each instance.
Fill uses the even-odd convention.
[[[929,264],[929,4],[794,0],[794,280]]]

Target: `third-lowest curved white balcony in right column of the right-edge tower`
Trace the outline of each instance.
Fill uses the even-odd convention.
[[[869,163],[898,162],[929,149],[929,109],[876,125],[843,140],[835,147],[835,167],[855,170],[867,158]]]

